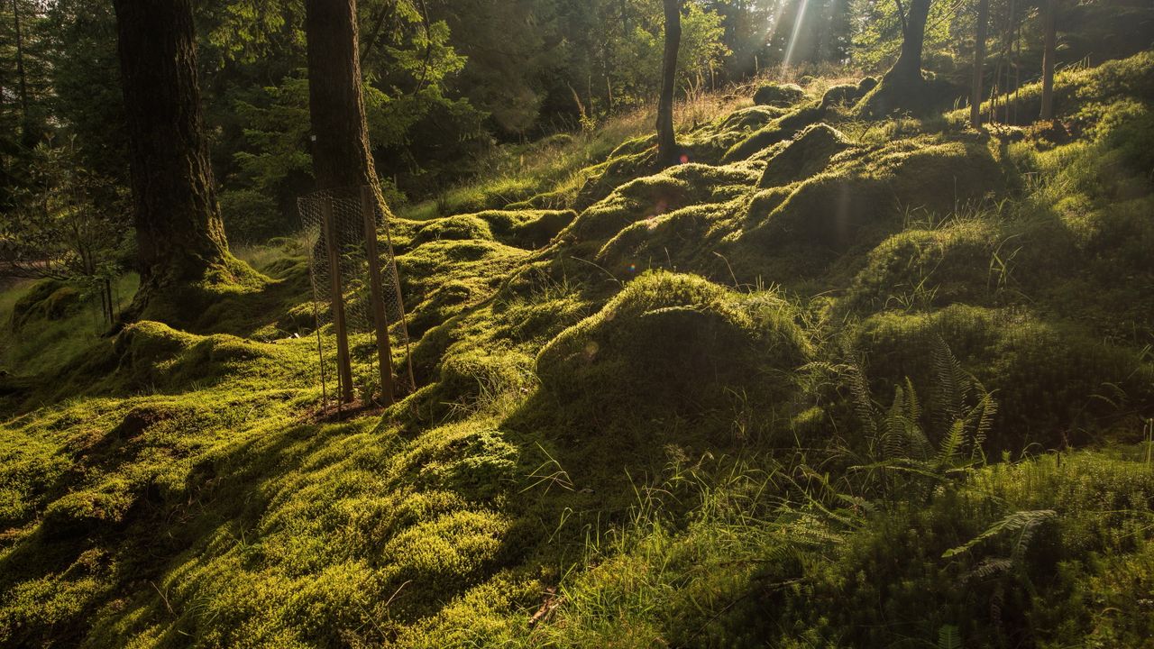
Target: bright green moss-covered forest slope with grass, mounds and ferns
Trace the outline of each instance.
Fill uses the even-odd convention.
[[[403,211],[383,412],[315,416],[292,240],[185,330],[7,289],[0,644],[1151,647],[1154,55],[1041,126],[871,88]]]

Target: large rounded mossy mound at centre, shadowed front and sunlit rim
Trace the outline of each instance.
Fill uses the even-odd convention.
[[[733,390],[782,397],[809,345],[788,304],[651,273],[537,358],[542,388],[615,417],[699,415]]]

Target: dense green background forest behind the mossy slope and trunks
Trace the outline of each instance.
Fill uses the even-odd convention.
[[[900,47],[896,7],[865,0],[687,2],[680,92],[714,91],[759,74],[883,72]],[[252,243],[292,232],[294,201],[312,182],[304,7],[299,0],[207,0],[196,9],[205,120],[228,238]],[[989,10],[989,60],[1012,50],[1011,83],[1035,81],[1042,59],[1037,3],[994,0]],[[1140,0],[1061,2],[1059,10],[1059,66],[1094,65],[1148,46],[1149,9]],[[974,12],[972,1],[935,2],[927,27],[927,68],[961,89],[972,74]],[[652,104],[660,87],[657,0],[367,0],[359,21],[370,140],[396,207],[441,196],[486,164],[499,164],[497,143],[591,128]],[[85,218],[115,222],[123,215],[117,199],[127,192],[127,158],[112,7],[6,0],[0,37],[5,243],[20,247],[7,240],[20,238],[12,215],[25,212],[23,225],[52,218],[36,206],[80,201],[89,208]],[[987,74],[996,74],[992,65]],[[507,202],[527,197],[510,189]]]

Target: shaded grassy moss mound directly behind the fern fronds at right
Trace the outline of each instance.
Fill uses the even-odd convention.
[[[1146,404],[1141,410],[1149,416],[1154,367],[1020,308],[953,305],[931,314],[879,314],[862,323],[854,344],[875,379],[897,385],[908,376],[931,385],[941,368],[927,350],[939,337],[1001,404],[989,440],[994,448],[1085,446],[1101,441],[1088,431],[1108,434],[1115,426],[1136,434],[1127,419],[1139,412],[1119,403]]]

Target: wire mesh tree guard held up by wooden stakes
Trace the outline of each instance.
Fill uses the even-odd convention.
[[[389,215],[370,187],[298,199],[309,249],[324,408],[389,405],[411,393],[412,364]]]

